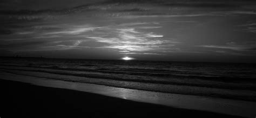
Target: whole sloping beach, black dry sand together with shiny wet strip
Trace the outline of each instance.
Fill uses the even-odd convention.
[[[1,72],[5,117],[253,117],[255,102],[140,91]]]

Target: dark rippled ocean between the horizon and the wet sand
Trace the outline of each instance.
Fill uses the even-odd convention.
[[[1,58],[0,71],[153,92],[256,101],[255,64]]]

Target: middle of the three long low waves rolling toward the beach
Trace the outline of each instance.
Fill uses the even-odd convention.
[[[154,77],[141,77],[141,76],[131,76],[131,75],[122,75],[122,74],[100,74],[100,73],[80,73],[80,72],[70,72],[70,71],[53,71],[53,70],[24,70],[18,68],[4,68],[4,70],[17,70],[17,71],[30,71],[30,72],[43,72],[59,75],[71,75],[75,77],[85,77],[93,79],[106,79],[106,80],[119,80],[119,81],[131,81],[131,82],[143,82],[151,84],[164,84],[164,85],[185,85],[185,86],[198,86],[198,87],[210,87],[210,88],[224,88],[224,89],[248,89],[256,91],[256,86],[240,84],[241,81],[238,81],[239,84],[228,84],[225,82],[214,82],[214,81],[205,81],[210,79],[205,79],[205,82],[198,81],[198,78],[193,79],[192,77],[188,78],[154,78]],[[202,78],[199,78],[202,79]],[[223,79],[223,78],[219,78]],[[255,81],[254,81],[255,82]]]

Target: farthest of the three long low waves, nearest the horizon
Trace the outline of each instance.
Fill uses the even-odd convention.
[[[90,65],[93,66],[93,65]],[[226,74],[205,74],[198,72],[189,72],[183,70],[166,70],[166,69],[152,69],[152,68],[71,68],[71,67],[59,67],[59,66],[21,66],[21,67],[37,67],[48,68],[53,70],[66,70],[66,71],[86,71],[86,72],[100,72],[100,73],[112,73],[112,74],[129,74],[140,75],[150,77],[165,77],[165,78],[191,78],[191,79],[207,79],[215,81],[254,81],[256,79],[254,72],[247,72],[240,75],[241,72],[227,72]],[[232,75],[232,74],[233,75]],[[235,74],[235,75],[234,75]],[[250,75],[248,75],[250,74]]]

